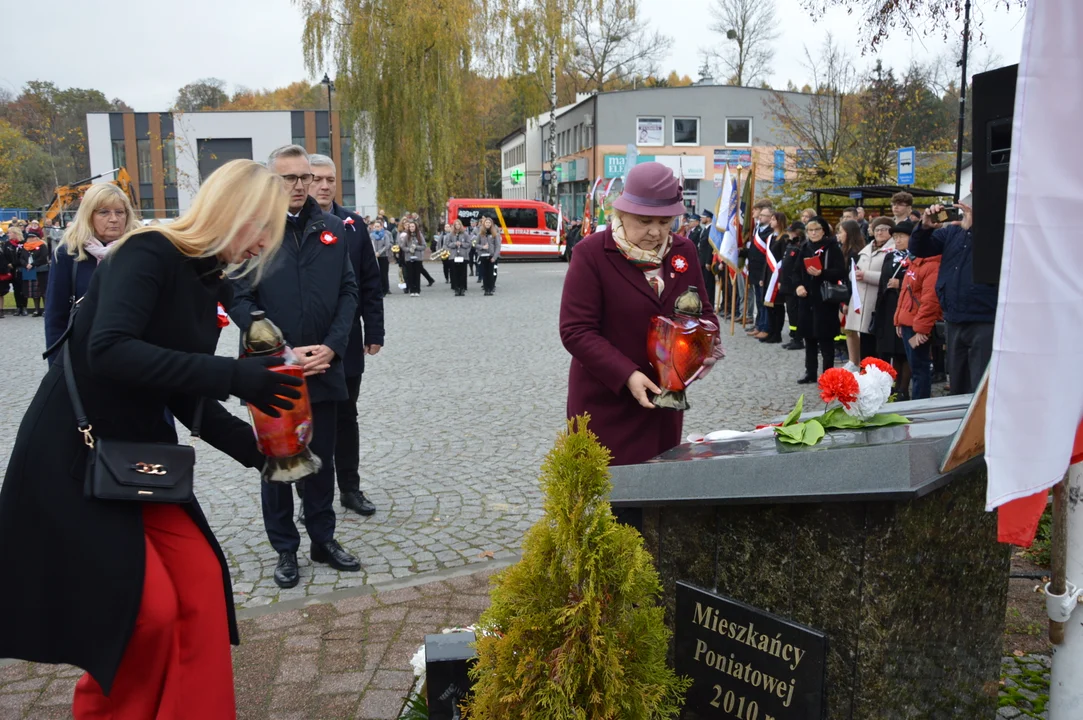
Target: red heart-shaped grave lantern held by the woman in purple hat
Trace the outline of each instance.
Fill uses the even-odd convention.
[[[674,303],[673,315],[655,315],[647,333],[647,356],[658,374],[662,394],[655,407],[687,410],[684,391],[703,372],[703,363],[718,342],[718,326],[705,320],[703,302],[689,287]]]

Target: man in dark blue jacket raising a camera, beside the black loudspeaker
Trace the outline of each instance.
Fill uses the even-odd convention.
[[[916,258],[942,256],[937,298],[943,310],[951,394],[973,393],[993,354],[996,286],[974,282],[974,210],[934,205],[910,238]]]

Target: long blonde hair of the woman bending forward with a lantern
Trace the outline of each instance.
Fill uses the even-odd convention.
[[[231,265],[227,272],[239,270],[235,275],[239,277],[255,271],[258,282],[282,245],[288,209],[289,196],[278,175],[252,160],[231,160],[204,181],[192,207],[175,222],[140,227],[117,243],[142,233],[161,233],[183,254],[209,258],[230,247],[246,225],[255,224],[260,231],[271,232],[271,245],[252,260]]]

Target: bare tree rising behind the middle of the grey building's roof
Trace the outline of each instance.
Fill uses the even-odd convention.
[[[710,29],[721,39],[706,50],[716,75],[729,84],[755,86],[771,73],[779,39],[774,0],[715,0]]]

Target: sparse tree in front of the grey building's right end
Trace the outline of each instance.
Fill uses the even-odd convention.
[[[815,55],[806,47],[805,57],[811,92],[774,92],[766,104],[790,144],[803,152],[797,158],[799,173],[827,178],[837,172],[839,160],[853,144],[852,95],[858,74],[831,35]]]

